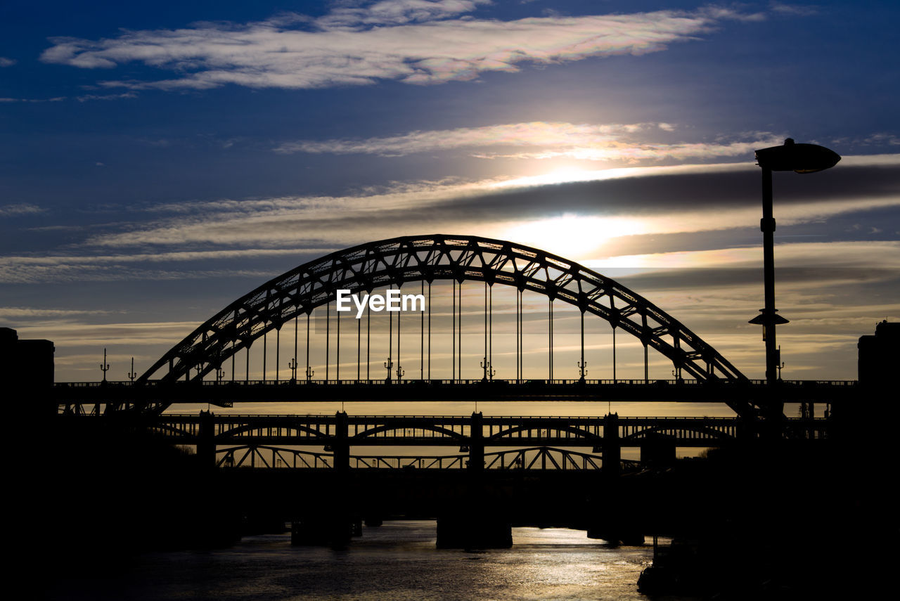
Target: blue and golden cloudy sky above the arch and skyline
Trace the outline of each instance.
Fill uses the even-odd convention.
[[[617,279],[761,378],[753,151],[792,137],[842,161],[774,178],[783,377],[853,379],[859,336],[900,320],[897,22],[894,2],[7,0],[0,326],[53,340],[57,381],[99,380],[104,348],[124,380],[296,265],[477,235]],[[643,373],[632,344],[619,377]]]

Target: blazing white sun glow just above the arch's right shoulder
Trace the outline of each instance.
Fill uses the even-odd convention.
[[[503,238],[568,259],[590,257],[611,238],[644,233],[639,220],[564,214],[510,225]]]

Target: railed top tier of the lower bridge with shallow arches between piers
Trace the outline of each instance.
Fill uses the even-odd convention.
[[[81,416],[76,419],[121,420]],[[465,446],[477,439],[486,447],[590,447],[604,443],[614,427],[620,446],[638,447],[665,438],[684,447],[732,441],[743,426],[739,417],[482,417],[476,416],[301,416],[164,414],[137,420],[175,444],[329,446]],[[786,432],[823,438],[830,421],[790,418]],[[343,429],[342,429],[343,428]],[[473,430],[473,428],[476,428]]]

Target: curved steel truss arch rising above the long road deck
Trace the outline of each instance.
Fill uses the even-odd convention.
[[[577,307],[635,336],[698,381],[747,381],[712,345],[620,283],[583,265],[513,242],[473,236],[405,236],[350,247],[275,277],[221,309],[173,346],[137,383],[202,380],[257,338],[336,300],[338,290],[371,293],[410,282],[504,284]],[[552,352],[552,347],[551,347]],[[193,378],[191,370],[196,370]],[[726,401],[742,417],[759,404]],[[161,406],[165,408],[165,406]]]

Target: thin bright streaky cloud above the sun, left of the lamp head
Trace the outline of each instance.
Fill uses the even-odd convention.
[[[662,158],[710,158],[752,155],[756,148],[780,144],[783,135],[768,132],[743,134],[740,140],[712,142],[647,142],[667,135],[671,123],[588,124],[531,121],[455,130],[411,131],[400,136],[369,139],[299,140],[286,142],[275,152],[290,154],[371,154],[405,156],[415,153],[470,149],[482,158],[576,158],[594,161],[636,162]],[[534,148],[511,152],[513,148]],[[493,148],[493,150],[491,150]],[[501,150],[506,148],[506,151]]]

